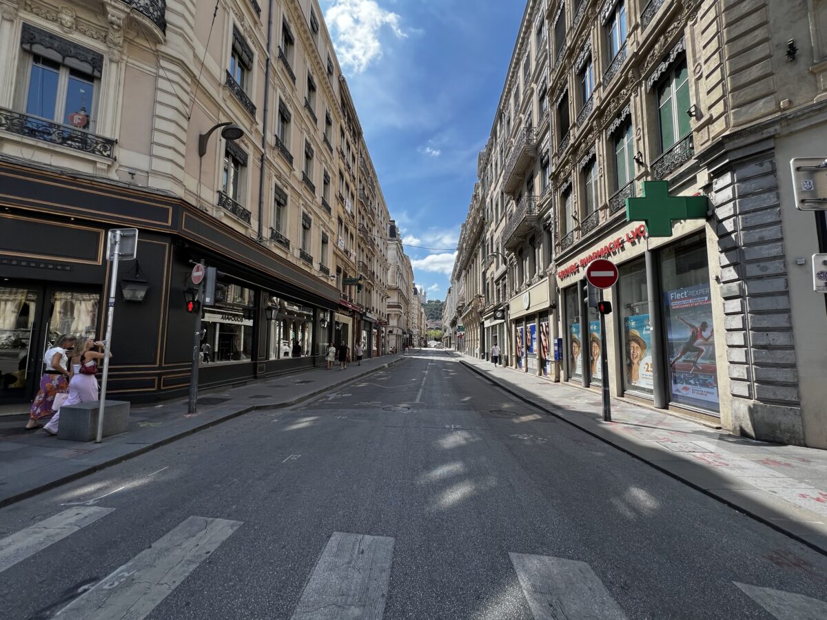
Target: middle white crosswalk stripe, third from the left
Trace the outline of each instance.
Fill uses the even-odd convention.
[[[291,620],[381,620],[394,539],[333,532]]]

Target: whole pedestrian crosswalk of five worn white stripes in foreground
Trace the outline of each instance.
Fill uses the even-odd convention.
[[[0,539],[0,573],[113,511],[98,506],[70,508]],[[232,544],[228,540],[241,527],[240,521],[187,517],[97,584],[79,590],[77,598],[54,618],[146,618],[219,546]],[[382,620],[394,545],[392,537],[332,532],[308,571],[290,620]],[[626,620],[624,609],[588,563],[523,553],[508,557],[534,620]],[[733,582],[733,596],[738,595],[745,607],[757,604],[777,620],[827,618],[827,603],[802,594]],[[271,613],[262,609],[254,616],[270,618]]]

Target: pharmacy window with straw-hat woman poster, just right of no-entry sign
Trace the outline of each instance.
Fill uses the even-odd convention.
[[[624,345],[624,389],[651,397],[654,390],[652,324],[643,258],[619,269],[619,312]]]

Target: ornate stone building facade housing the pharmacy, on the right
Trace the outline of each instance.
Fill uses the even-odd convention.
[[[825,212],[796,209],[790,164],[825,155],[827,4],[790,8],[528,2],[480,174],[509,260],[515,369],[827,447],[810,260]],[[605,343],[586,303],[596,258],[619,269]]]

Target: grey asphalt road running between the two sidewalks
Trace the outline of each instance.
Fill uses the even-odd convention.
[[[827,617],[825,556],[441,351],[3,508],[0,539],[0,618]]]

